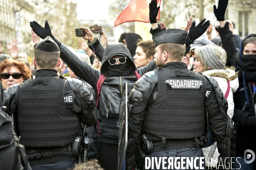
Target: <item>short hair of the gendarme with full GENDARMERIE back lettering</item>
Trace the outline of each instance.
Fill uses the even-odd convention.
[[[183,44],[166,42],[166,43],[160,44],[160,50],[161,50],[161,53],[163,53],[163,51],[166,51],[167,54],[170,55],[170,59],[175,61],[181,61],[182,58],[184,57],[186,46]]]

